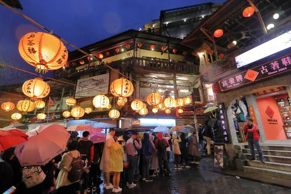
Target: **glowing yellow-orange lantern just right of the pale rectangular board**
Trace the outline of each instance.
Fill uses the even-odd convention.
[[[133,85],[130,81],[120,78],[111,83],[110,92],[115,97],[129,97],[133,93]]]

